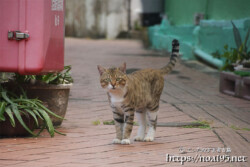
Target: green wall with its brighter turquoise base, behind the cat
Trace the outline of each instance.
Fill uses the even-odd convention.
[[[151,46],[171,51],[171,41],[176,38],[183,59],[195,59],[198,52],[212,59],[213,53],[224,52],[225,45],[236,48],[231,20],[245,39],[250,28],[249,6],[250,0],[166,0],[168,20],[149,29]],[[196,13],[205,14],[200,25],[194,25]],[[250,40],[247,45],[250,48]]]

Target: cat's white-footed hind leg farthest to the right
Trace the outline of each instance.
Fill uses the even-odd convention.
[[[144,138],[144,141],[150,142],[154,141],[156,126],[157,126],[157,114],[159,110],[159,105],[156,105],[153,107],[153,109],[147,110],[147,117],[148,117],[148,132],[146,137]]]

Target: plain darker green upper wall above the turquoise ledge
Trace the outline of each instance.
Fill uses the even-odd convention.
[[[249,0],[165,0],[165,13],[173,25],[194,24],[195,13],[209,20],[250,17]]]

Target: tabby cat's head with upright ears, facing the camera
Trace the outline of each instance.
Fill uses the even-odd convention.
[[[100,83],[102,88],[107,91],[115,91],[124,89],[127,83],[126,63],[123,63],[118,68],[104,68],[100,65],[97,66],[100,73]]]

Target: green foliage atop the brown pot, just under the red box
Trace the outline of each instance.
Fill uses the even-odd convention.
[[[20,75],[15,74],[14,78],[18,83],[42,82],[47,84],[70,84],[73,78],[70,74],[71,66],[64,66],[64,70],[59,73],[48,73],[46,75]]]

